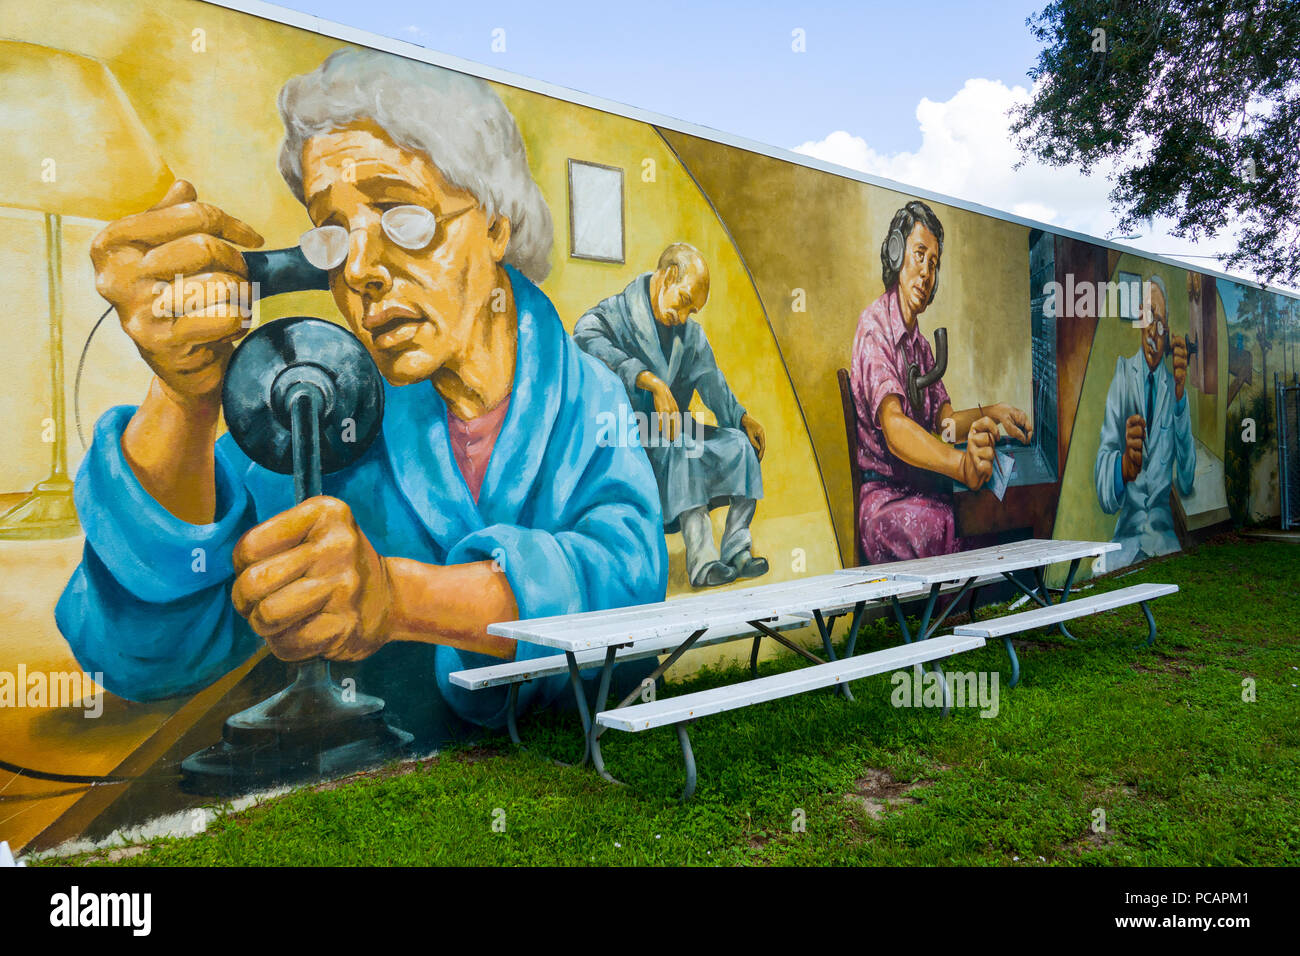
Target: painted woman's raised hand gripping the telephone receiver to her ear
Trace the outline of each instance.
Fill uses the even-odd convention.
[[[220,397],[235,342],[250,329],[248,268],[234,245],[263,243],[252,226],[172,183],[162,200],[109,222],[91,243],[95,289],[168,395]]]

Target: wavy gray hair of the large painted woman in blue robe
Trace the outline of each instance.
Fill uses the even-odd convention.
[[[300,202],[303,144],[369,120],[393,142],[429,157],[489,217],[510,220],[506,261],[534,282],[550,272],[551,211],[528,168],[524,139],[488,82],[373,49],[337,49],[280,91],[280,173]]]

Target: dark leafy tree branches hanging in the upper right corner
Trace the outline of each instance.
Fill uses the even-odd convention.
[[[1027,157],[1113,164],[1121,230],[1240,229],[1227,267],[1300,282],[1300,1],[1053,0],[1013,116]]]

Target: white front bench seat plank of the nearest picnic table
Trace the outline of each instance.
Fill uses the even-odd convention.
[[[796,671],[774,674],[767,678],[745,680],[708,691],[688,693],[681,697],[666,697],[649,704],[633,704],[616,710],[602,710],[595,722],[602,727],[625,731],[642,731],[663,727],[681,721],[693,721],[724,710],[760,704],[763,701],[792,697],[806,691],[842,684],[858,678],[883,674],[885,671],[909,667],[914,663],[936,661],[949,654],[984,646],[983,637],[932,637],[928,641],[904,644],[897,648],[875,650],[870,654],[850,657],[845,661],[801,667]]]

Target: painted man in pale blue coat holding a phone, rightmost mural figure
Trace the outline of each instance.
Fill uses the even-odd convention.
[[[1108,555],[1113,567],[1176,551],[1170,488],[1190,496],[1196,479],[1196,442],[1187,401],[1187,337],[1169,329],[1165,280],[1143,282],[1141,347],[1115,359],[1106,392],[1095,481],[1097,503],[1119,512]],[[1173,355],[1173,371],[1165,354]]]

